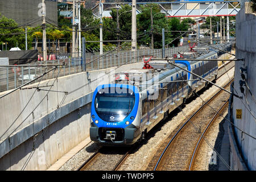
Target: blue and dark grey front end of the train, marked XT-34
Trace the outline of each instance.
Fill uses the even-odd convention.
[[[101,146],[131,145],[141,137],[139,92],[135,86],[106,84],[92,99],[90,139]]]

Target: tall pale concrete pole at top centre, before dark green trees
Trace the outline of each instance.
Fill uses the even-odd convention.
[[[133,0],[131,5],[131,51],[134,51],[134,55],[137,57],[136,0]]]

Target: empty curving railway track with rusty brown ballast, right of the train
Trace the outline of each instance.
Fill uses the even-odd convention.
[[[226,84],[225,88],[228,88],[232,81]],[[209,121],[216,115],[215,111],[219,110],[224,102],[226,104],[228,98],[229,93],[220,90],[185,123],[181,123],[159,148],[159,152],[152,158],[147,170],[188,170],[189,164],[193,164],[192,156],[195,159],[194,151],[198,149],[196,146],[199,146],[197,145],[200,143],[199,139],[203,138],[201,137],[203,133],[206,133],[205,129],[209,127]]]

